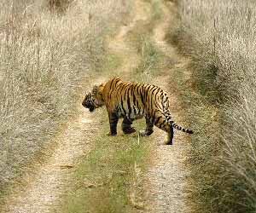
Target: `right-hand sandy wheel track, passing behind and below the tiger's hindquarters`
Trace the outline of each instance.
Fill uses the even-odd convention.
[[[177,100],[175,83],[170,81],[175,74],[177,67],[186,66],[189,61],[182,56],[177,55],[176,49],[169,43],[166,43],[166,31],[172,23],[175,14],[175,5],[173,3],[161,3],[162,18],[160,24],[154,29],[154,42],[157,47],[165,54],[170,65],[160,72],[160,76],[154,79],[154,83],[168,92],[171,104],[172,117],[177,124],[183,124],[182,108]],[[170,82],[169,82],[170,81]],[[156,130],[154,135],[155,143],[163,142],[163,132]],[[189,170],[185,165],[190,150],[189,139],[187,135],[180,131],[175,131],[173,146],[155,147],[153,165],[148,170],[148,206],[149,211],[154,213],[186,213],[190,212],[186,196],[189,190],[188,180]],[[147,189],[146,189],[147,190]]]

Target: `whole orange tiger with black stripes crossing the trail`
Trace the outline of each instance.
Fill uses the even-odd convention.
[[[185,129],[173,121],[169,98],[163,89],[155,85],[112,78],[85,93],[82,105],[90,112],[106,106],[110,126],[108,135],[117,135],[119,118],[123,118],[121,128],[124,134],[136,132],[132,122],[143,117],[146,119],[146,129],[139,131],[139,135],[151,135],[155,125],[166,131],[166,145],[172,145],[174,129],[193,134],[193,130]]]

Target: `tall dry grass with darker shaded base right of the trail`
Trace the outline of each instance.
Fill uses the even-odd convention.
[[[256,3],[182,0],[178,17],[172,41],[192,57],[200,97],[190,115],[202,129],[192,141],[195,199],[201,212],[256,212]]]

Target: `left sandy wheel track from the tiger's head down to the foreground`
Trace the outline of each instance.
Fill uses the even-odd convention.
[[[102,82],[105,79],[99,79]],[[97,80],[95,79],[95,82]],[[85,87],[86,88],[86,87]],[[88,89],[90,87],[88,86]],[[67,187],[73,184],[71,174],[77,160],[90,151],[90,139],[96,133],[99,120],[80,107],[83,100],[80,97],[77,107],[79,118],[68,122],[61,133],[54,139],[58,141],[55,153],[44,163],[36,166],[33,174],[27,176],[29,184],[9,199],[4,211],[14,213],[51,212],[65,193]],[[86,140],[84,140],[86,138]]]

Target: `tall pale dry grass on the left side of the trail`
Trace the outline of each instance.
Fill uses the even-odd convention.
[[[81,83],[104,55],[104,37],[129,9],[124,0],[61,3],[0,3],[0,191],[75,113]]]

